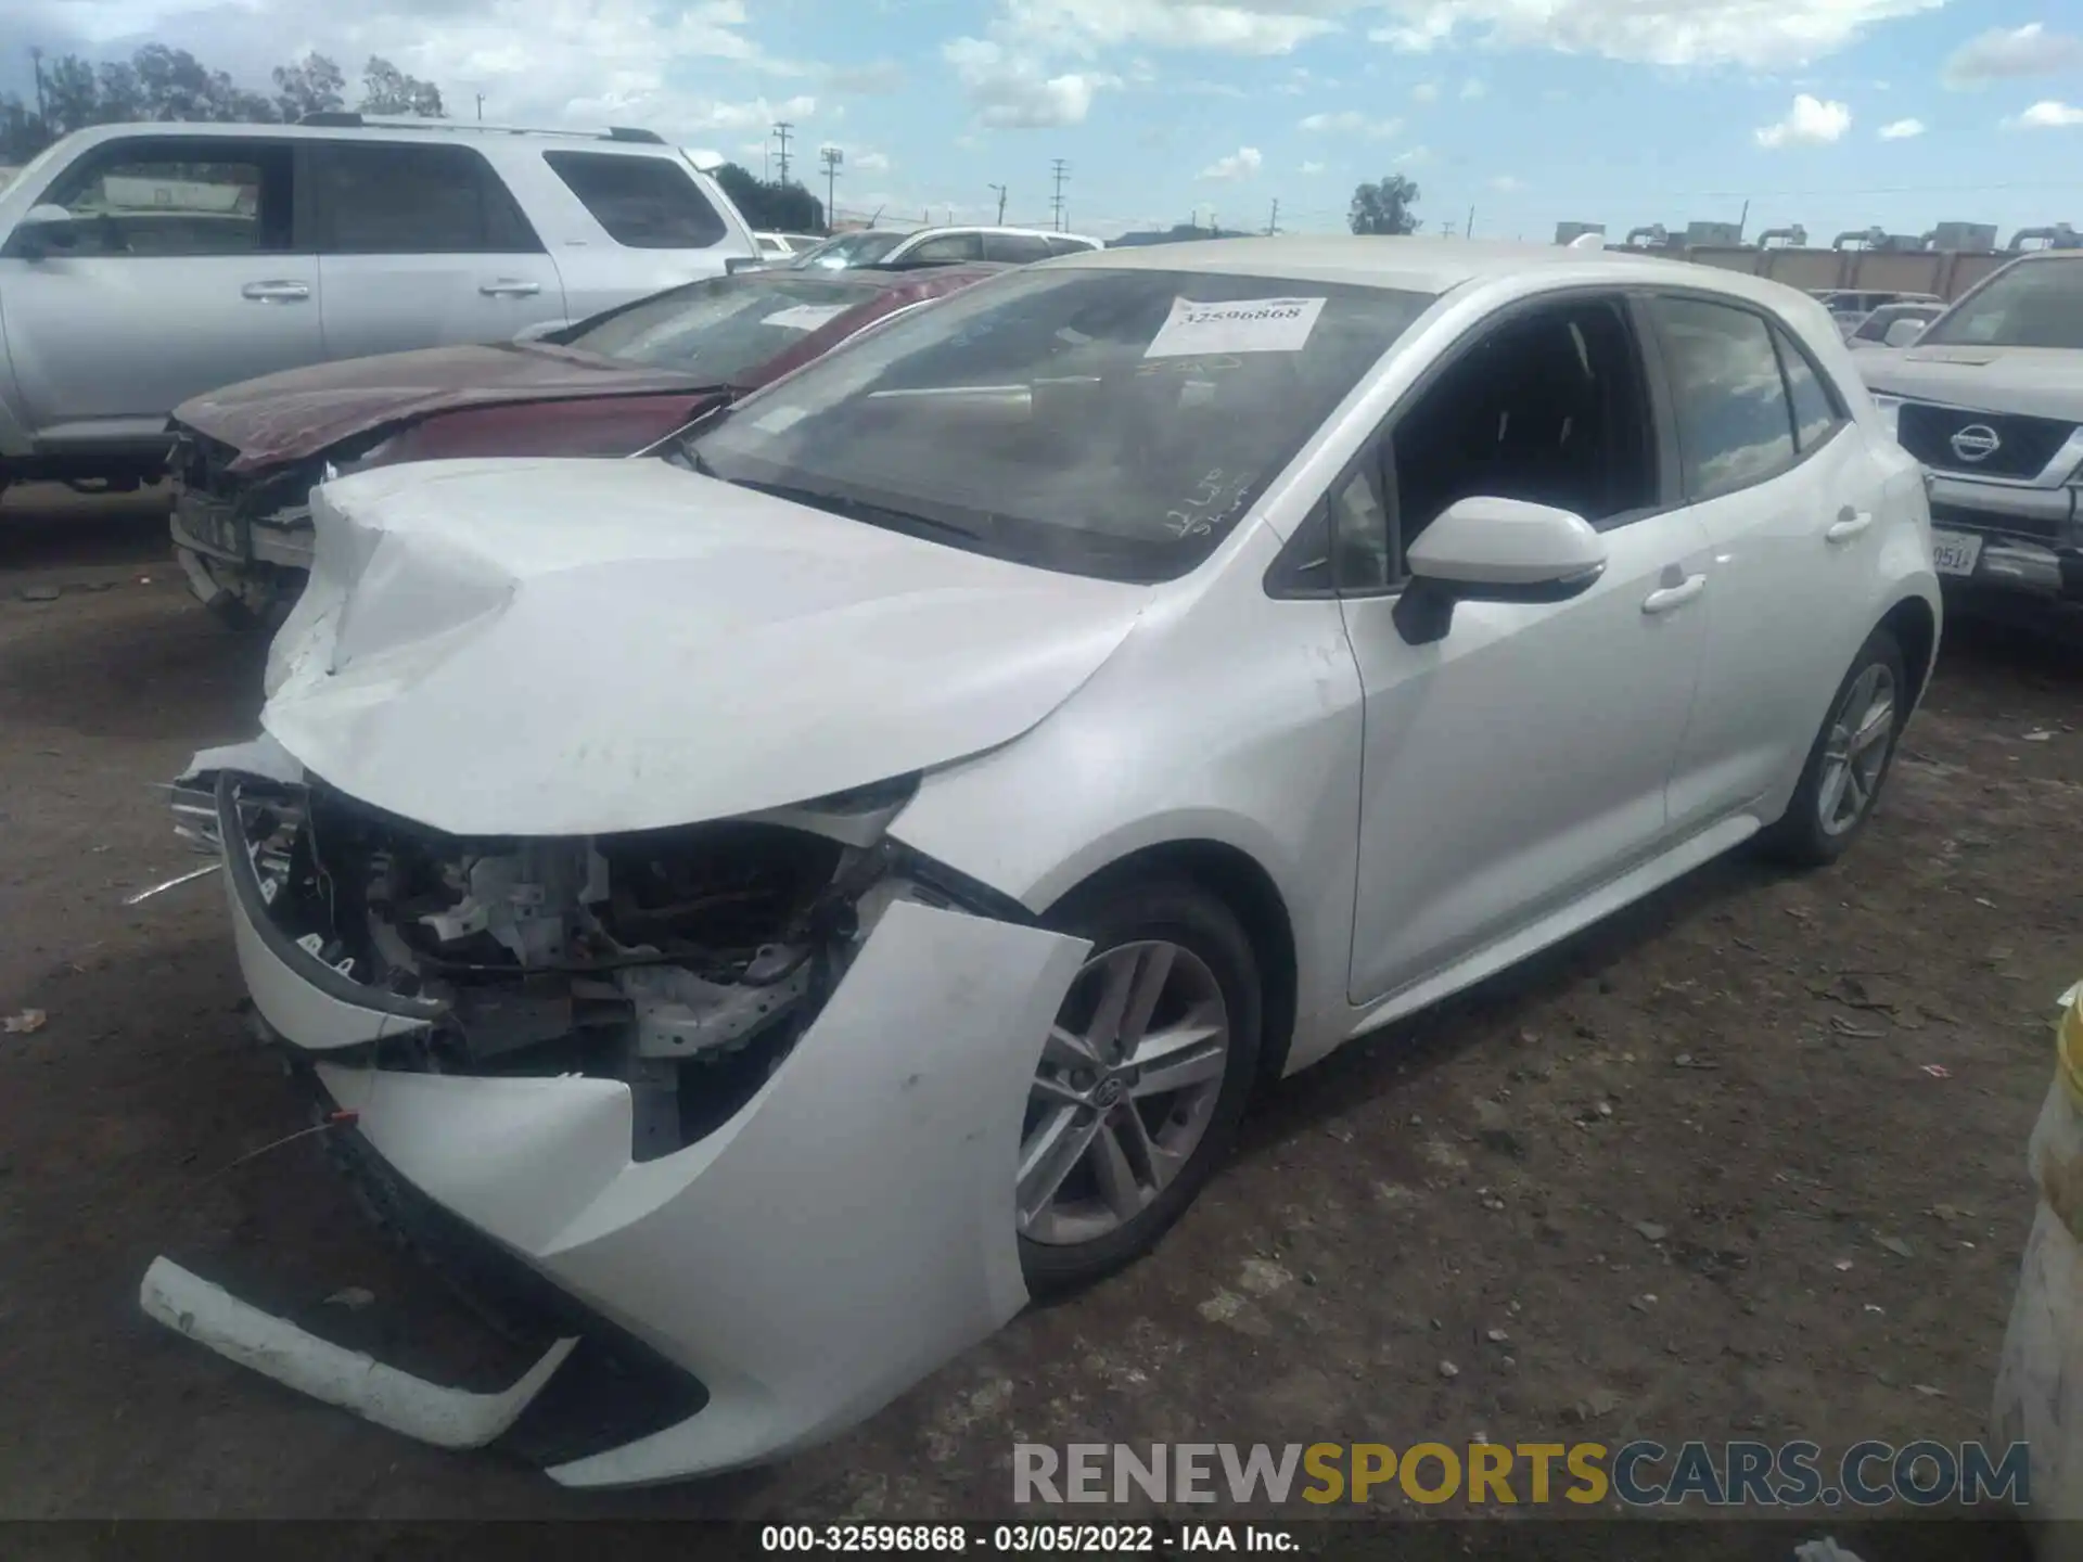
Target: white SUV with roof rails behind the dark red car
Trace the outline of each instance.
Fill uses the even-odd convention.
[[[758,248],[644,129],[94,125],[0,192],[0,487],[152,481],[217,385],[504,342]]]

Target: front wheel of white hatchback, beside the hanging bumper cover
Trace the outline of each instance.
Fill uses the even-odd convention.
[[[1073,896],[1091,954],[1050,1027],[1021,1125],[1017,1220],[1033,1295],[1150,1252],[1229,1154],[1258,1070],[1250,937],[1185,879]]]

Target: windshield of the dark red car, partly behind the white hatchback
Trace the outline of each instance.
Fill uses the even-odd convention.
[[[581,321],[552,339],[646,369],[685,369],[727,385],[802,342],[806,331],[879,294],[875,283],[852,277],[748,271],[675,287]]]

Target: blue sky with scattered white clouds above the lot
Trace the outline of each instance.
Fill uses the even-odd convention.
[[[1558,221],[2083,225],[2083,0],[0,0],[29,46],[192,50],[244,85],[383,54],[450,112],[646,125],[885,221],[1337,231],[1362,179],[1423,231]],[[1275,217],[1275,202],[1277,217]]]

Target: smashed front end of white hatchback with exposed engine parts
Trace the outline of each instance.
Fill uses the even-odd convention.
[[[894,841],[912,787],[542,839],[396,818],[267,739],[177,785],[254,1008],[344,1137],[700,1385],[556,1479],[821,1441],[1025,1306],[1021,1110],[1085,946]],[[237,1316],[190,1333],[340,1379],[217,1343]]]

